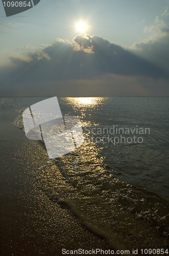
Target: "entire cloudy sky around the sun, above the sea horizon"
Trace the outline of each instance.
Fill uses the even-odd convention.
[[[0,2],[0,45],[0,96],[169,96],[168,0]]]

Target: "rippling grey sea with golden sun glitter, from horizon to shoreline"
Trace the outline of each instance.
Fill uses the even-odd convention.
[[[12,168],[13,141],[18,165],[22,162],[23,168],[24,159],[25,166],[34,166],[34,186],[54,204],[68,207],[110,248],[138,249],[138,255],[153,253],[147,249],[158,255],[163,249],[169,255],[169,97],[58,97],[63,116],[80,120],[83,142],[53,159],[43,140],[26,138],[22,122],[26,108],[48,98],[0,98],[5,200],[5,161]]]

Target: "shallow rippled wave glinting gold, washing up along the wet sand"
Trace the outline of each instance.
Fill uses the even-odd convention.
[[[155,193],[124,183],[109,172],[98,148],[79,150],[39,170],[39,187],[55,202],[68,204],[88,228],[115,249],[166,247],[169,206]]]

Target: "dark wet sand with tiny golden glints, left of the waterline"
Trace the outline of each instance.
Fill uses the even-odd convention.
[[[48,158],[22,130],[4,126],[1,142],[1,250],[10,255],[63,255],[62,248],[110,249],[65,205],[52,202],[37,187],[36,172]],[[10,137],[12,134],[12,137]]]

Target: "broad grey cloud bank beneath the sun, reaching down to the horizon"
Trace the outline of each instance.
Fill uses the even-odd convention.
[[[10,57],[0,77],[2,96],[169,95],[163,67],[98,35],[27,46],[22,57]]]

